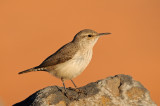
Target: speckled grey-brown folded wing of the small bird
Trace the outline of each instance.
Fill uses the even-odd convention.
[[[74,44],[72,42],[64,45],[59,50],[57,50],[54,54],[46,58],[38,66],[38,68],[53,66],[71,59],[78,50],[78,47],[76,45],[74,46],[73,45]]]

